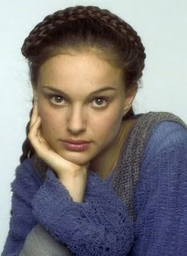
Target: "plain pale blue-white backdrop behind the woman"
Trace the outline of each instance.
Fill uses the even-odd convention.
[[[147,58],[134,102],[136,113],[169,111],[187,122],[186,0],[0,0],[0,251],[9,230],[10,182],[19,164],[31,107],[27,63],[20,48],[47,14],[76,5],[109,9],[140,34]]]

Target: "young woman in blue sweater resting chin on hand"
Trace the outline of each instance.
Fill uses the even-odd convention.
[[[186,255],[187,127],[134,114],[141,38],[97,6],[47,16],[22,46],[33,109],[2,255]]]

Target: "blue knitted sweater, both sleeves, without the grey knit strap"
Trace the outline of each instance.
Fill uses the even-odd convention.
[[[137,219],[113,191],[111,180],[90,172],[83,202],[73,202],[53,170],[43,182],[26,159],[12,182],[10,231],[2,256],[18,256],[41,223],[76,255],[187,255],[187,131],[161,122],[145,147],[134,191]]]

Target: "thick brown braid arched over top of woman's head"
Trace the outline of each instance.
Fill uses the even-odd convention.
[[[63,23],[80,19],[97,20],[105,24],[105,26],[109,26],[112,30],[115,30],[116,33],[121,34],[122,37],[128,38],[129,42],[144,54],[143,58],[145,59],[145,48],[137,32],[116,14],[112,14],[109,10],[101,9],[97,6],[68,7],[46,16],[42,22],[38,23],[38,25],[31,30],[22,46],[22,54],[26,58],[30,58],[34,50],[37,49],[51,32],[56,30],[59,26],[62,26]]]

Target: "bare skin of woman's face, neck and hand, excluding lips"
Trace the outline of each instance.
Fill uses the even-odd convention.
[[[82,202],[88,166],[105,173],[108,159],[116,158],[121,119],[135,94],[125,92],[122,71],[92,51],[59,54],[40,67],[29,139],[74,201]],[[67,150],[66,139],[89,141],[89,148]]]

